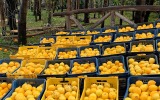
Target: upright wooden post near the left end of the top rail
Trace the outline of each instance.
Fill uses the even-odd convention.
[[[67,0],[67,11],[71,11],[71,0]],[[70,15],[66,16],[66,28],[67,30],[71,29]]]

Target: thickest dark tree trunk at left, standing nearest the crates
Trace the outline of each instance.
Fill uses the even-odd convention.
[[[18,18],[18,44],[26,45],[26,16],[27,16],[27,3],[28,0],[22,0]]]

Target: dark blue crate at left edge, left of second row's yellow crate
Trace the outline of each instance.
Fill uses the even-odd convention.
[[[19,62],[20,63],[20,66],[13,71],[13,73],[14,73],[17,69],[19,69],[21,67],[22,60],[21,59],[1,59],[0,60],[0,64],[2,64],[4,62],[9,63],[10,61],[15,61],[15,62]],[[0,73],[0,77],[6,77],[7,76],[6,74],[7,73]]]

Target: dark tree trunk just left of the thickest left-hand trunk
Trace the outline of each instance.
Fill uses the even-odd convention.
[[[8,24],[10,30],[17,30],[16,25],[16,17],[15,17],[15,10],[16,10],[16,3],[15,0],[6,0],[8,5]]]

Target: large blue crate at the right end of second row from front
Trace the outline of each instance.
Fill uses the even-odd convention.
[[[129,62],[128,62],[128,60],[130,59],[130,58],[133,58],[133,59],[135,59],[135,61],[141,61],[141,60],[149,60],[149,58],[154,58],[155,59],[155,64],[158,64],[158,58],[157,58],[157,56],[156,55],[154,55],[154,54],[150,54],[150,55],[145,55],[145,56],[128,56],[127,57],[127,60],[126,60],[126,63],[127,63],[127,69],[128,69],[128,73],[131,75],[131,76],[159,76],[158,74],[149,74],[149,75],[132,75],[131,73],[130,73],[130,70],[129,70]]]

